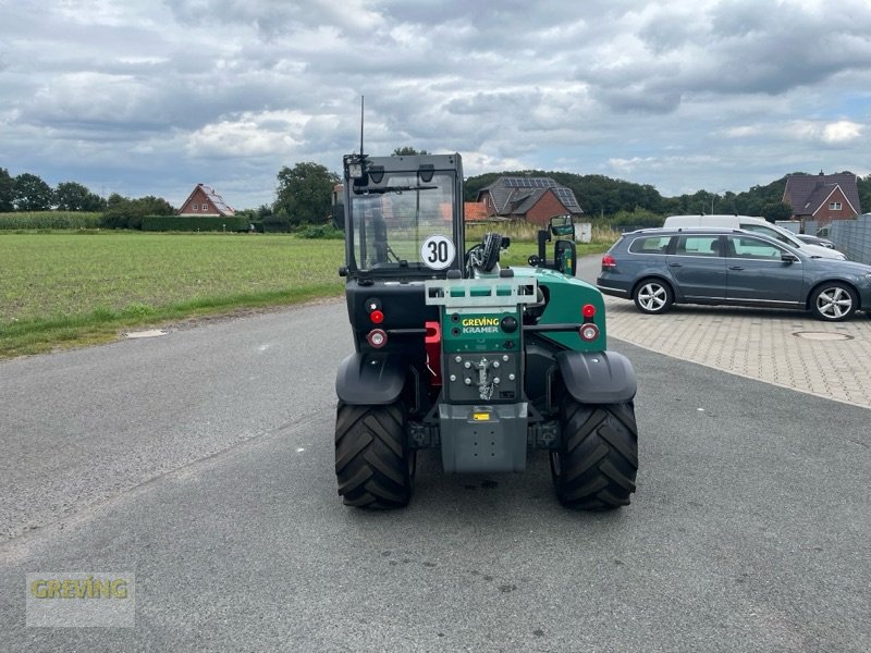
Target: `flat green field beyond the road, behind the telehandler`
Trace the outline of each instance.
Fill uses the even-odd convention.
[[[470,233],[469,243],[479,237]],[[512,234],[504,264],[525,264],[536,249],[527,237]],[[339,296],[343,247],[278,234],[0,232],[0,358],[107,342],[132,326]],[[578,254],[606,247],[579,245]]]

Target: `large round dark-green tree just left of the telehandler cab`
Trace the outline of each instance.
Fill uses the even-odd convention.
[[[279,186],[273,211],[282,209],[290,224],[319,224],[330,217],[333,187],[339,175],[319,163],[297,163],[293,170],[286,165],[278,174]]]

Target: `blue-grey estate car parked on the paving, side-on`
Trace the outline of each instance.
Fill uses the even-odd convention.
[[[871,311],[871,266],[811,257],[744,230],[624,234],[602,257],[597,286],[651,315],[675,303],[803,309],[830,322]]]

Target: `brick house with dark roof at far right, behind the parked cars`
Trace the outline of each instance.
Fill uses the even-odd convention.
[[[808,220],[820,226],[833,220],[848,220],[862,212],[859,188],[851,172],[839,174],[789,174],[783,201],[793,208],[793,220]]]

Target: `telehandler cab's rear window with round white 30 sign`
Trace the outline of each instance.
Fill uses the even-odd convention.
[[[444,270],[456,257],[454,178],[436,173],[388,173],[363,193],[351,193],[354,224],[349,252],[360,270]]]

